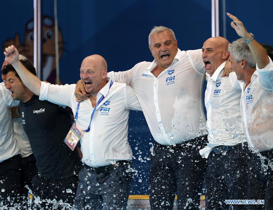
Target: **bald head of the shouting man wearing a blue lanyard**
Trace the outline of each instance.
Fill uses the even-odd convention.
[[[80,78],[85,91],[90,95],[97,93],[106,85],[107,63],[100,55],[87,56],[80,67]]]

